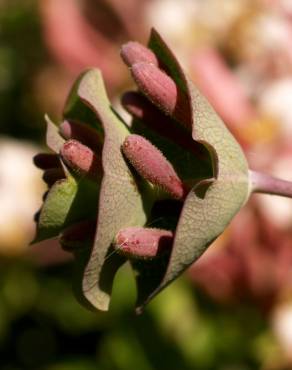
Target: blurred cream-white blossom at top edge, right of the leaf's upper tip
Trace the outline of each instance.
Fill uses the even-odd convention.
[[[244,7],[245,0],[157,0],[149,2],[146,19],[177,51],[227,35]]]

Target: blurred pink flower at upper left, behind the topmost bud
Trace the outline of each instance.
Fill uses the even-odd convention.
[[[108,10],[103,12],[103,8]],[[123,6],[114,0],[104,1],[104,4],[42,0],[40,11],[46,44],[54,58],[74,76],[89,67],[101,69],[112,90],[126,78],[118,45],[134,30],[137,35],[141,34],[143,24],[138,25],[135,20],[141,19],[142,8],[143,1],[136,0],[123,2]],[[88,19],[90,9],[91,20]],[[99,22],[94,22],[94,14],[99,16]],[[114,27],[110,35],[105,32],[109,27]],[[117,36],[119,40],[115,40]]]

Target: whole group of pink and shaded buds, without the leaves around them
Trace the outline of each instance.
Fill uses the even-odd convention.
[[[138,91],[126,92],[122,96],[122,105],[133,119],[143,121],[155,135],[203,156],[201,147],[190,135],[187,96],[163,70],[156,55],[138,42],[129,42],[122,46],[121,57],[138,87]],[[66,170],[77,179],[99,186],[103,176],[103,139],[91,126],[81,122],[64,120],[58,130],[64,139],[59,152],[42,153],[34,159],[36,166],[44,171],[43,178],[49,190],[56,182],[65,179]],[[121,151],[134,177],[146,181],[153,193],[158,194],[158,199],[183,203],[189,186],[180,178],[163,150],[134,130],[126,137]],[[65,228],[59,236],[62,247],[76,252],[92,244],[96,222],[96,219],[85,219]],[[117,253],[127,258],[151,260],[166,250],[170,251],[173,238],[174,232],[170,230],[130,226],[119,230],[112,244]]]

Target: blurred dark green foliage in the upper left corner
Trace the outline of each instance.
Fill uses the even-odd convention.
[[[33,82],[47,59],[35,0],[0,3],[0,132],[39,140],[43,113]]]

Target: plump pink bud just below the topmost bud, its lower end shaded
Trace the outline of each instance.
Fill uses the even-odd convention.
[[[131,71],[139,90],[154,105],[187,128],[191,127],[188,98],[166,73],[149,63],[136,63]]]

